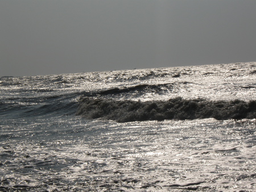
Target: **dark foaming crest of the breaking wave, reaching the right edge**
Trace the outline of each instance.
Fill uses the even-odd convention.
[[[207,101],[205,99],[172,98],[168,101],[116,101],[92,97],[80,98],[77,115],[117,122],[164,119],[253,119],[256,101]]]

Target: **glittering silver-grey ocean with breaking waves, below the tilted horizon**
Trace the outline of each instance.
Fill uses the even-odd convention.
[[[0,191],[256,191],[256,62],[0,87]]]

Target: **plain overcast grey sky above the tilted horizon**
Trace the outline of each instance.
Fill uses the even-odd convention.
[[[0,77],[247,61],[255,0],[0,1]]]

